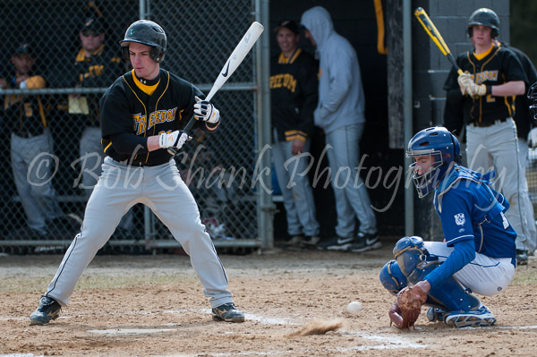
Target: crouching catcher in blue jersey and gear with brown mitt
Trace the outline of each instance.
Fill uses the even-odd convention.
[[[422,130],[408,143],[409,166],[420,198],[434,191],[444,242],[404,237],[396,260],[380,271],[380,282],[397,302],[389,310],[399,328],[413,326],[422,309],[427,319],[449,327],[481,327],[496,317],[473,294],[495,295],[507,288],[516,268],[516,232],[507,221],[509,203],[490,188],[494,172],[457,165],[460,146],[443,127]]]

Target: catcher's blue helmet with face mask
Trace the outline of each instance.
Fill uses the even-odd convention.
[[[422,174],[416,171],[417,157],[430,157],[430,167]],[[461,158],[461,146],[456,136],[442,126],[423,129],[408,141],[406,157],[413,158],[408,166],[413,172],[413,183],[420,198],[434,190],[452,163]]]

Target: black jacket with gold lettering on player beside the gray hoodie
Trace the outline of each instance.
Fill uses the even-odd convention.
[[[272,58],[271,114],[278,140],[305,140],[313,132],[313,112],[319,97],[317,72],[313,57],[300,48],[289,58],[283,53]]]

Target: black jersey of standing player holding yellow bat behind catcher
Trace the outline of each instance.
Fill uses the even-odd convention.
[[[473,54],[473,51],[468,51],[459,55],[456,63],[463,72],[470,72],[473,81],[478,85],[499,85],[507,81],[528,82],[522,64],[516,55],[503,47],[493,46],[488,54],[479,59]],[[480,125],[496,120],[505,120],[507,117],[515,115],[513,97],[494,97],[490,94],[478,98],[462,97],[457,77],[455,68],[452,68],[447,76],[444,89],[447,90],[447,100],[453,102],[462,100],[465,123]]]

